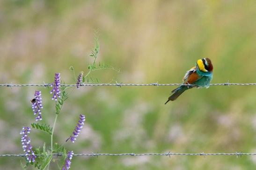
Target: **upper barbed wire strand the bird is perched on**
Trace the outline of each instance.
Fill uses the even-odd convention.
[[[0,86],[6,86],[6,87],[24,87],[24,86],[42,86],[42,87],[49,87],[51,86],[52,83],[44,83],[44,84],[12,84],[12,83],[7,83],[7,84],[0,84]],[[197,86],[193,84],[181,84],[181,83],[168,83],[168,84],[161,84],[158,82],[154,83],[143,83],[143,84],[135,84],[135,83],[83,83],[78,86],[179,86],[179,85],[185,85],[185,86]],[[256,85],[256,83],[230,83],[230,82],[225,82],[225,83],[214,83],[210,84],[210,86],[250,86],[250,85]],[[61,84],[61,86],[67,86],[67,87],[74,87],[77,86],[77,84]]]

